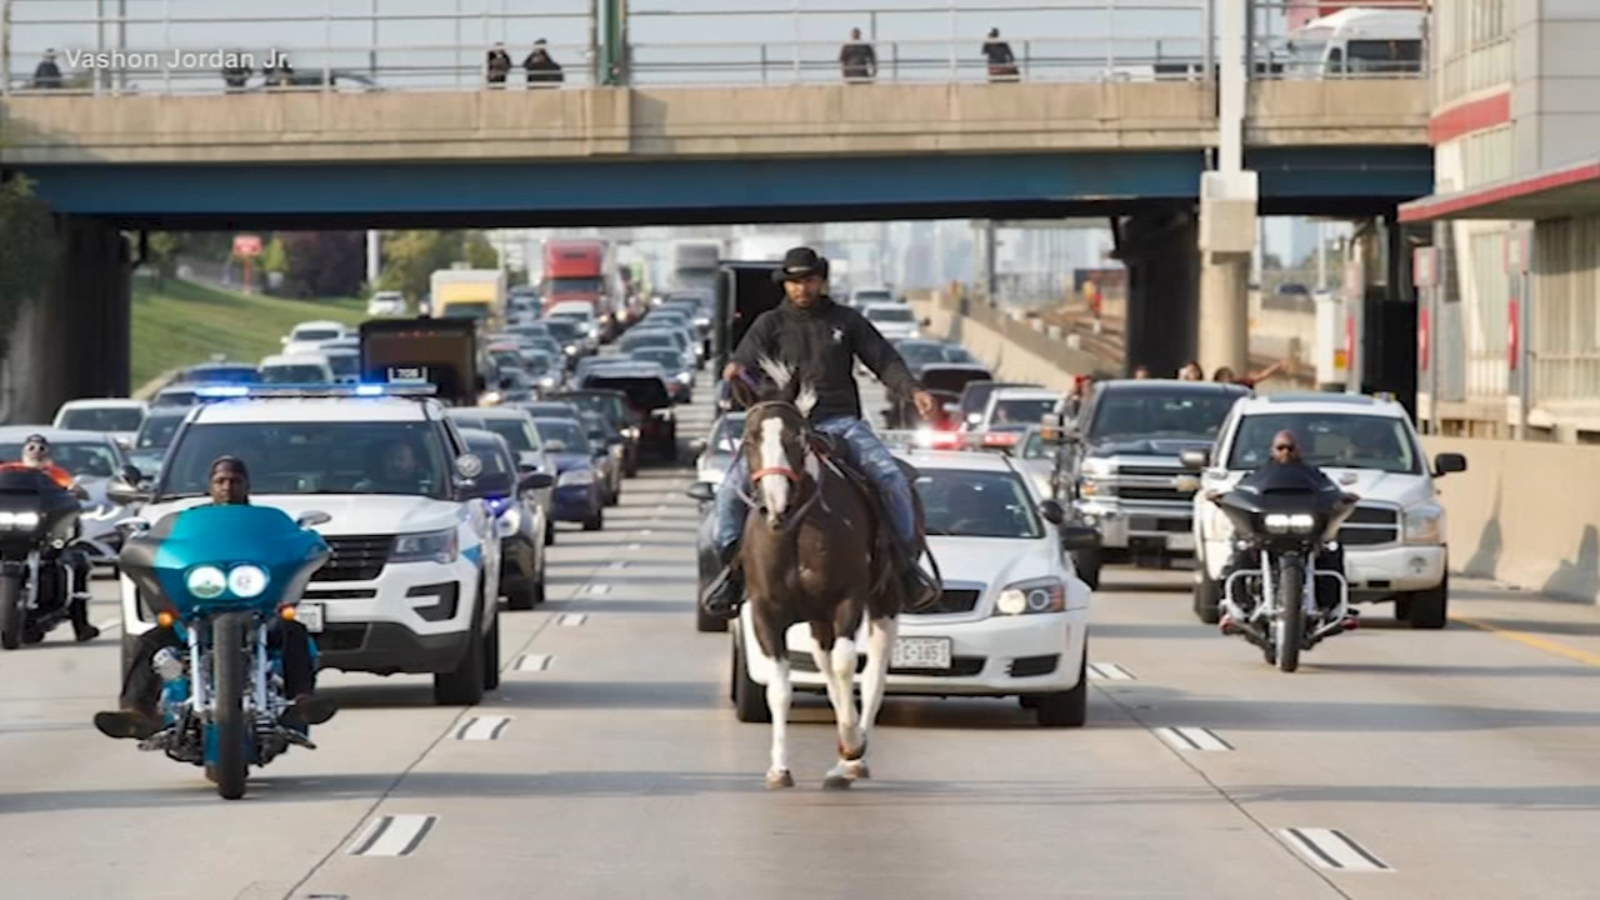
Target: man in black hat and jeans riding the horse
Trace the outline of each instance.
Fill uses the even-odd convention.
[[[917,562],[917,538],[912,487],[906,472],[890,455],[878,436],[861,418],[861,391],[854,364],[859,359],[896,397],[910,396],[917,412],[933,415],[938,400],[922,389],[906,368],[894,346],[872,322],[848,306],[834,303],[824,293],[827,259],[810,247],[797,247],[784,255],[773,279],[784,285],[786,301],[755,319],[744,340],[733,351],[725,380],[744,378],[757,370],[762,359],[776,360],[795,372],[795,378],[816,391],[811,429],[829,434],[850,447],[854,464],[872,480],[886,508],[896,538],[902,597],[909,607],[922,607],[938,596],[941,586]],[[707,613],[720,618],[738,615],[744,596],[744,573],[739,570],[739,536],[750,508],[742,496],[749,484],[749,463],[734,456],[733,469],[717,488],[717,549],[723,570],[701,597]]]

